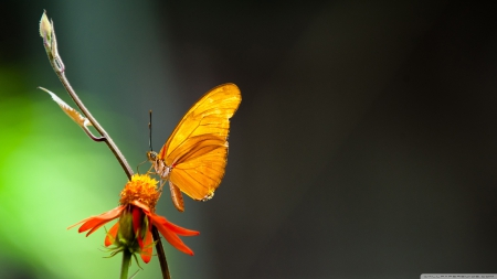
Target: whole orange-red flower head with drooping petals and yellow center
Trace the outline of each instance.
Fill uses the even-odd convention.
[[[80,224],[80,233],[88,230],[86,236],[97,230],[108,222],[119,217],[119,222],[107,232],[104,245],[115,245],[113,255],[128,249],[139,254],[144,262],[149,262],[152,255],[151,227],[156,226],[162,236],[178,250],[193,256],[193,251],[184,245],[180,236],[194,236],[199,232],[177,226],[165,217],[155,214],[155,206],[160,197],[157,181],[147,174],[135,174],[120,193],[120,205],[98,216],[83,219],[68,228]]]

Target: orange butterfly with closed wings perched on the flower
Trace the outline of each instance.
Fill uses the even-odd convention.
[[[184,211],[181,192],[208,201],[224,176],[230,118],[242,101],[234,84],[205,93],[183,116],[159,153],[147,152],[157,174],[169,180],[172,203]]]

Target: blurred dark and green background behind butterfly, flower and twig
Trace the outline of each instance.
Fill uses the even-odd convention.
[[[172,278],[497,272],[497,18],[448,1],[6,1],[0,278],[118,278],[105,230],[126,175],[38,86],[73,105],[39,35],[135,168],[210,88],[235,83],[226,175],[158,213]],[[148,167],[148,164],[147,164]],[[142,170],[146,170],[144,167]],[[109,226],[107,226],[109,227]],[[160,278],[157,258],[136,278]],[[134,262],[131,272],[138,270]]]

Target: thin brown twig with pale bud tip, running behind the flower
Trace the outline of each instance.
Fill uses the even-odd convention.
[[[43,21],[43,18],[42,18]],[[44,29],[43,29],[44,28]],[[92,116],[89,110],[84,106],[83,101],[77,96],[76,92],[71,86],[70,82],[65,77],[65,66],[62,62],[62,58],[59,54],[59,47],[55,37],[55,30],[53,26],[53,21],[51,22],[51,25],[44,25],[40,28],[40,33],[43,37],[43,45],[46,51],[46,55],[49,56],[50,64],[52,65],[53,71],[59,76],[59,79],[61,81],[62,85],[64,86],[67,94],[73,98],[74,103],[77,105],[77,107],[81,109],[84,116],[88,118],[88,120],[92,122],[92,125],[95,127],[95,129],[101,133],[102,138],[97,138],[96,141],[105,141],[107,143],[110,151],[116,157],[117,161],[119,161],[120,167],[125,171],[126,175],[128,176],[128,180],[131,180],[133,176],[133,169],[129,167],[129,163],[126,161],[126,158],[123,155],[120,150],[117,148],[116,143],[114,143],[113,139],[108,133],[104,130],[104,128],[98,124],[98,121]],[[92,137],[94,138],[94,137]],[[170,279],[169,275],[169,267],[168,262],[166,260],[166,254],[163,251],[162,242],[160,239],[159,233],[155,226],[152,226],[152,235],[154,240],[156,242],[156,249],[160,262],[160,269],[162,271],[162,278],[163,279]]]

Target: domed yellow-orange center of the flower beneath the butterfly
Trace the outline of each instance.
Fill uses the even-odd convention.
[[[155,212],[157,201],[160,193],[157,191],[157,180],[148,174],[135,174],[131,181],[126,183],[125,189],[120,192],[120,204],[129,204],[133,201],[139,201],[147,205],[151,212]]]

